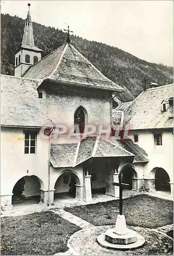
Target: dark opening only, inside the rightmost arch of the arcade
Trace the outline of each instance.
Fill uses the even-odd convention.
[[[157,168],[155,178],[156,190],[170,191],[170,178],[163,168]]]

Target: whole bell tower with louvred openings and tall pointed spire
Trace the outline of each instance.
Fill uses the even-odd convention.
[[[20,50],[15,54],[15,76],[23,76],[24,73],[36,62],[41,59],[42,50],[37,48],[34,43],[33,26],[30,14],[30,4],[24,27],[22,44]]]

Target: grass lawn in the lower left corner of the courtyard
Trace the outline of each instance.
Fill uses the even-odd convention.
[[[5,217],[1,221],[1,254],[54,254],[68,250],[67,241],[80,228],[51,211]]]

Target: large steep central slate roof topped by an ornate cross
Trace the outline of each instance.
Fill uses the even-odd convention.
[[[24,75],[32,79],[51,79],[63,84],[122,91],[98,71],[78,50],[66,44],[38,61]]]

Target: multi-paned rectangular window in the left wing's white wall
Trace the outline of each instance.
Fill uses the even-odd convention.
[[[36,138],[37,133],[25,132],[24,154],[36,153]]]

